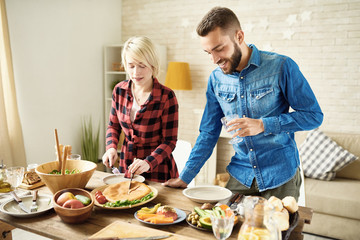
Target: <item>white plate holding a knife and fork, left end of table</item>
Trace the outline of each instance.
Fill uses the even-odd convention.
[[[25,207],[30,210],[32,196],[20,197]],[[14,199],[10,199],[0,205],[0,211],[14,217],[28,218],[35,217],[53,208],[52,195],[39,194],[37,198],[38,211],[25,213]]]

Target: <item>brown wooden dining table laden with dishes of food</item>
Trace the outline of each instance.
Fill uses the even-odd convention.
[[[105,185],[103,178],[108,175],[110,174],[95,171],[85,188],[91,191]],[[193,202],[184,196],[182,194],[182,189],[164,187],[157,182],[146,181],[145,183],[158,190],[158,196],[145,206],[153,206],[156,203],[161,203],[162,205],[169,205],[181,209],[187,214],[190,213],[195,206],[201,206],[201,203]],[[51,194],[46,186],[39,188],[39,193]],[[32,218],[16,218],[0,212],[0,239],[11,239],[11,229],[13,228],[20,228],[50,239],[87,239],[116,221],[131,224],[131,226],[139,226],[141,229],[158,229],[176,235],[192,237],[194,239],[215,239],[211,231],[193,228],[185,220],[177,224],[166,226],[153,226],[139,222],[135,219],[134,213],[140,208],[141,207],[114,210],[95,206],[91,217],[80,224],[64,223],[53,209]],[[299,215],[300,219],[298,226],[290,237],[292,240],[303,239],[302,228],[304,223],[310,223],[312,210],[310,208],[300,207]],[[237,239],[240,226],[241,222],[234,226],[229,239]],[[1,238],[1,236],[3,238]]]

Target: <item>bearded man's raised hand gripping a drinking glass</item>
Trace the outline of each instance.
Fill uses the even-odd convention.
[[[253,119],[253,118],[236,118],[227,123],[227,126],[230,126],[227,130],[231,132],[236,130],[232,137],[247,137],[247,136],[255,136],[259,133],[264,132],[264,124],[261,119]]]

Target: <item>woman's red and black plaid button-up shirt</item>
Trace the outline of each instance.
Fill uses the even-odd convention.
[[[150,181],[165,182],[179,176],[172,151],[178,134],[178,102],[174,92],[154,79],[153,89],[140,106],[134,122],[130,121],[133,105],[132,81],[117,84],[112,95],[106,150],[117,149],[119,136],[125,139],[120,153],[120,172],[125,172],[134,158],[144,159],[150,170],[142,175]]]

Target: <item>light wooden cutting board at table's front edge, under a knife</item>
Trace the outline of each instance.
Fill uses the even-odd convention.
[[[89,239],[93,238],[107,238],[107,237],[151,237],[151,236],[163,236],[172,234],[169,232],[140,226],[137,224],[131,224],[122,221],[115,221],[105,228],[101,229]],[[171,237],[164,240],[195,240],[195,238],[185,237],[183,235],[172,234]]]

